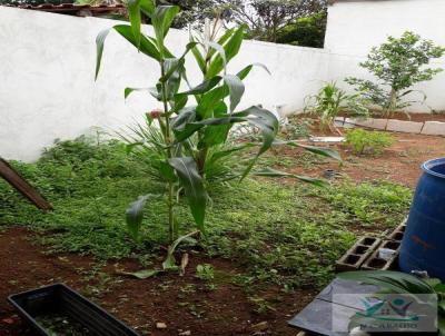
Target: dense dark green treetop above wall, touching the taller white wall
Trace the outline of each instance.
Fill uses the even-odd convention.
[[[277,43],[323,48],[325,43],[327,12],[318,12],[307,18],[300,18],[283,28],[278,33]]]

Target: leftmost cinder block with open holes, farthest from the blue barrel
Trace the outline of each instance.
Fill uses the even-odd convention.
[[[380,239],[375,237],[360,238],[348,251],[336,263],[338,271],[356,270],[375,251],[380,244]]]

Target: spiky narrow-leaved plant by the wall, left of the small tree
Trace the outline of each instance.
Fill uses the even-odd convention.
[[[342,111],[350,117],[368,116],[368,109],[360,95],[346,93],[335,81],[327,82],[316,95],[307,97],[306,100],[305,111],[319,118],[322,130],[329,128],[342,134],[334,125],[335,118]]]

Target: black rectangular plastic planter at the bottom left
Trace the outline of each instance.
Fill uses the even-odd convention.
[[[139,336],[106,310],[62,284],[14,294],[8,297],[8,300],[39,335],[49,336],[36,317],[62,314],[86,327],[89,330],[88,335]]]

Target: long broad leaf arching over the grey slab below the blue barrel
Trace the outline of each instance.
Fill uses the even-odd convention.
[[[409,274],[392,270],[347,271],[338,275],[340,279],[376,285],[395,294],[434,294],[434,289]]]

